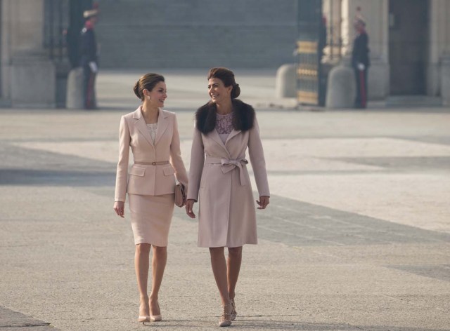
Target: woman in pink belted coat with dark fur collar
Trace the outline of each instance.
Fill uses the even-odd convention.
[[[210,69],[208,93],[210,102],[195,113],[186,213],[194,218],[193,204],[199,201],[198,246],[210,248],[224,308],[219,326],[229,326],[237,314],[234,297],[243,245],[257,243],[247,148],[259,192],[258,209],[266,208],[270,194],[255,110],[236,100],[240,88],[233,72]]]

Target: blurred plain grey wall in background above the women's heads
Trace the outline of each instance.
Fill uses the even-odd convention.
[[[101,66],[268,67],[293,62],[295,0],[99,0]]]

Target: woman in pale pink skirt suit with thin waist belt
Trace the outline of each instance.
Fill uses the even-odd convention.
[[[187,187],[188,176],[181,159],[176,116],[162,109],[167,98],[164,77],[159,74],[142,76],[134,86],[134,93],[142,104],[120,120],[114,210],[124,217],[125,196],[128,193],[136,245],[134,266],[140,294],[138,320],[145,323],[162,320],[158,292],[167,262],[175,177]],[[134,165],[128,173],[130,147]],[[153,248],[153,281],[149,299],[150,248]]]

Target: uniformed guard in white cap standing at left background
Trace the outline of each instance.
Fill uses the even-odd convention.
[[[97,22],[98,11],[92,9],[84,11],[86,20],[82,29],[80,41],[80,60],[83,68],[84,109],[96,109],[95,81],[98,72],[97,42],[94,27]]]

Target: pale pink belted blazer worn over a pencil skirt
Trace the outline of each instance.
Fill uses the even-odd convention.
[[[176,180],[188,185],[188,175],[181,159],[180,138],[176,116],[159,109],[155,144],[148,133],[141,106],[120,119],[119,162],[115,182],[115,201],[125,195],[158,196],[175,191]],[[129,147],[135,164],[128,173]],[[136,164],[169,161],[167,164]]]

